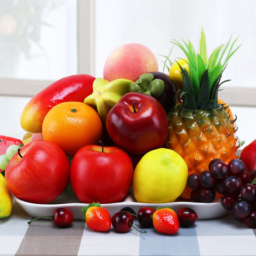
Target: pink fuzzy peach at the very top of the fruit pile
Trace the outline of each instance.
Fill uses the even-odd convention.
[[[153,71],[158,71],[153,52],[143,44],[129,43],[117,47],[108,55],[103,77],[108,81],[125,78],[135,82],[140,75]]]

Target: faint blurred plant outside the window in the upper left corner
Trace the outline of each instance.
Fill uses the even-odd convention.
[[[61,0],[0,0],[0,45],[2,50],[22,52],[30,58],[33,43],[40,45],[43,26],[51,26],[43,19],[47,12],[62,4]]]

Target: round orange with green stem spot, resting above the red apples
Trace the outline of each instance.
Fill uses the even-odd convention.
[[[43,137],[59,145],[68,156],[74,156],[86,145],[98,144],[102,122],[97,111],[83,102],[68,101],[54,106],[46,114]]]

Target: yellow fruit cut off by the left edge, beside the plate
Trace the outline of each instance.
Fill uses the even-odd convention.
[[[12,212],[12,196],[3,174],[0,173],[0,219],[8,217]]]

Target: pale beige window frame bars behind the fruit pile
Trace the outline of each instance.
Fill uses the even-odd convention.
[[[95,2],[77,0],[77,61],[78,74],[95,76]],[[50,80],[0,78],[0,95],[33,97],[36,93],[52,84]],[[256,87],[222,86],[219,98],[231,106],[256,107]]]

